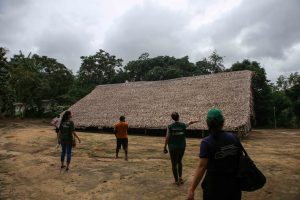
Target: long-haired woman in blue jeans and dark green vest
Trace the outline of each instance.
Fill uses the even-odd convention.
[[[78,135],[75,133],[74,122],[71,120],[71,118],[72,118],[71,111],[66,111],[63,114],[59,126],[59,138],[60,138],[61,150],[62,150],[61,157],[60,157],[61,169],[66,167],[66,171],[69,170],[69,166],[71,162],[73,140],[77,138],[78,142],[79,143],[81,142]],[[64,165],[66,155],[67,155],[67,166]]]

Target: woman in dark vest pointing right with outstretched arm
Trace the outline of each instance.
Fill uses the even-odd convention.
[[[172,163],[172,172],[175,179],[174,184],[179,186],[183,184],[182,158],[186,147],[185,130],[189,125],[197,123],[198,121],[190,121],[187,124],[180,122],[179,114],[177,112],[173,112],[171,118],[174,122],[167,127],[164,152],[168,153],[168,146]]]

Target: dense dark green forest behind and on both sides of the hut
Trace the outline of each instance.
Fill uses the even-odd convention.
[[[94,55],[81,56],[81,66],[74,75],[55,58],[37,54],[7,58],[8,49],[0,47],[0,116],[12,117],[14,103],[26,105],[22,117],[53,117],[66,109],[99,84],[125,81],[156,81],[178,77],[198,76],[225,71],[251,70],[254,72],[252,92],[254,97],[256,127],[300,126],[300,75],[279,76],[271,83],[260,63],[243,60],[223,65],[223,57],[214,51],[209,57],[195,63],[189,57],[150,57],[143,53],[137,60],[123,66],[123,60],[104,50]],[[55,102],[50,112],[42,107],[44,100]]]

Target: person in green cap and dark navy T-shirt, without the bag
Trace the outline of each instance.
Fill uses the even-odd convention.
[[[240,141],[233,133],[222,131],[224,116],[221,110],[209,110],[206,122],[210,134],[200,144],[200,159],[187,199],[194,199],[194,191],[205,174],[201,184],[204,200],[240,200],[241,189],[236,177]]]

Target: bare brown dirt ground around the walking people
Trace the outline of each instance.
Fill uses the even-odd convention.
[[[48,123],[48,122],[47,122]],[[198,161],[200,139],[188,138],[183,177],[172,184],[163,137],[129,136],[129,161],[115,159],[113,134],[78,132],[69,172],[46,121],[0,120],[0,199],[185,199]],[[130,133],[129,133],[130,134]],[[255,130],[243,144],[267,177],[245,200],[300,199],[300,130]],[[198,186],[196,199],[202,199]]]

